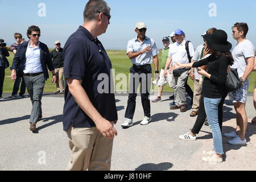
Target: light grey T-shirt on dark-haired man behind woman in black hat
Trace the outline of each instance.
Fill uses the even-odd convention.
[[[243,76],[245,72],[247,61],[246,58],[254,57],[255,47],[250,42],[250,40],[243,40],[243,42],[237,44],[237,46],[232,51],[232,56],[234,58],[234,64],[231,68],[237,68],[239,77]]]

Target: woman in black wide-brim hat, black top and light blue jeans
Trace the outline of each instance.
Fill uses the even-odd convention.
[[[202,93],[204,97],[205,112],[207,114],[210,130],[213,134],[213,150],[203,151],[207,157],[202,158],[205,162],[222,162],[222,154],[224,154],[222,146],[222,135],[220,125],[218,124],[218,104],[225,93],[226,75],[229,65],[234,60],[230,49],[232,44],[228,40],[228,35],[223,30],[216,30],[213,34],[203,36],[205,44],[212,52],[212,55],[206,59],[196,63],[178,64],[171,67],[171,70],[187,67],[197,68],[207,65],[207,71],[197,68],[200,75],[205,76]]]

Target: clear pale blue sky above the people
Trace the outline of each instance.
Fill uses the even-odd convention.
[[[14,32],[20,32],[27,39],[27,27],[35,24],[40,27],[40,41],[53,47],[55,40],[64,46],[77,27],[82,24],[85,4],[88,1],[73,0],[0,0],[1,28],[0,38],[7,46],[14,43]],[[109,0],[112,18],[106,32],[99,36],[106,49],[126,49],[127,42],[136,36],[134,26],[143,21],[147,25],[146,35],[154,39],[158,48],[162,48],[163,36],[168,36],[177,28],[182,29],[186,39],[196,48],[202,43],[201,34],[210,27],[227,32],[233,46],[231,27],[236,22],[249,25],[247,39],[256,46],[256,1],[255,0],[197,0],[197,1],[123,1]],[[39,17],[39,3],[46,5],[46,16]],[[210,17],[210,3],[217,7],[217,16]]]

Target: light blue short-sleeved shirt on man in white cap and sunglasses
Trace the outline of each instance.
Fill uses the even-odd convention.
[[[146,47],[150,47],[151,50],[148,52],[144,52],[141,55],[131,59],[131,63],[135,65],[144,65],[144,64],[151,64],[153,62],[152,56],[158,55],[159,51],[156,47],[156,44],[153,39],[148,38],[145,36],[143,42],[139,41],[137,38],[131,39],[128,41],[127,44],[127,52],[139,52],[143,51]]]

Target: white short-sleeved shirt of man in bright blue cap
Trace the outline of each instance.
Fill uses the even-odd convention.
[[[185,43],[186,40],[184,39],[181,44],[177,42],[171,44],[168,56],[172,57],[172,65],[174,65],[175,62],[181,64],[189,63]],[[188,43],[188,48],[190,56],[193,57],[195,51],[191,42]]]

